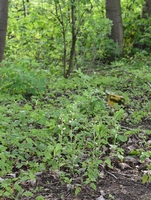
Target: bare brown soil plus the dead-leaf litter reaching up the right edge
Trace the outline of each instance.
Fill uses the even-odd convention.
[[[39,172],[35,175],[34,181],[24,182],[22,184],[23,192],[31,192],[32,197],[20,196],[19,200],[151,200],[151,183],[146,181],[142,183],[143,174],[151,175],[148,165],[151,166],[151,159],[148,158],[144,162],[140,161],[139,155],[135,150],[144,149],[150,151],[151,134],[147,130],[151,130],[150,116],[142,119],[137,125],[123,123],[122,131],[133,130],[138,128],[138,132],[132,134],[127,142],[121,144],[124,149],[124,160],[121,162],[117,158],[111,158],[113,169],[108,166],[100,166],[100,177],[96,183],[96,190],[89,185],[82,185],[81,178],[73,178],[71,185],[61,184],[59,173],[48,171]],[[134,150],[136,153],[129,156]],[[110,154],[107,149],[107,156]],[[139,152],[138,152],[139,153]],[[76,188],[80,188],[80,192],[75,195]],[[3,198],[10,200],[11,198]],[[0,198],[1,200],[1,198]]]

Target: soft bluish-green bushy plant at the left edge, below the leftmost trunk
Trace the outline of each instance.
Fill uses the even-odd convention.
[[[18,60],[7,68],[1,68],[1,91],[10,94],[22,94],[27,97],[43,93],[46,87],[46,75],[40,77],[40,73],[28,69],[28,62]]]

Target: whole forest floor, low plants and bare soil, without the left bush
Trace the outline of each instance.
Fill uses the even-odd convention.
[[[130,69],[1,96],[0,200],[151,200],[151,72]],[[108,91],[126,103],[110,106]]]

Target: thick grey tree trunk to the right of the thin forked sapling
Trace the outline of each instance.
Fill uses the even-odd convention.
[[[106,17],[113,22],[111,38],[120,47],[123,53],[123,25],[120,0],[106,0]]]

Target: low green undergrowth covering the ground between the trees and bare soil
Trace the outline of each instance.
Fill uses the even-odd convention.
[[[63,183],[72,185],[80,177],[80,184],[96,189],[100,166],[112,168],[115,157],[123,161],[122,145],[144,130],[146,121],[151,122],[151,68],[137,59],[100,66],[96,72],[77,70],[68,79],[38,69],[35,62],[13,63],[9,70],[8,63],[4,65],[0,69],[0,196],[32,196],[23,192],[22,183],[50,169],[59,173]],[[110,107],[109,94],[122,95],[125,104]],[[144,146],[129,156],[142,160],[150,156],[150,144],[145,143],[150,134],[148,129],[141,134]],[[10,179],[8,174],[17,176]]]

